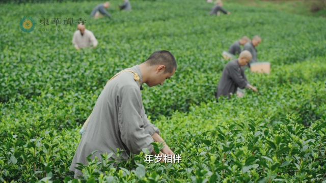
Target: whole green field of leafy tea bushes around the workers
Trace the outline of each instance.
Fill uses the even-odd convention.
[[[0,182],[326,182],[325,18],[227,1],[232,14],[215,17],[197,0],[132,1],[120,12],[114,0],[113,19],[93,20],[100,3],[0,5]],[[76,24],[25,33],[24,16],[85,18],[99,45],[76,51]],[[216,102],[221,53],[244,35],[262,37],[271,74],[247,70],[259,93]],[[79,129],[106,81],[156,50],[170,50],[178,69],[164,86],[144,85],[143,103],[182,161],[106,155],[73,179]]]

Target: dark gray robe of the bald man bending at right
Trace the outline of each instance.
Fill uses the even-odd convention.
[[[230,96],[230,94],[236,94],[237,88],[243,89],[247,86],[248,81],[246,75],[244,75],[243,69],[240,67],[238,60],[229,62],[222,73],[220,83],[218,85],[218,92],[216,93],[216,99],[220,96]]]

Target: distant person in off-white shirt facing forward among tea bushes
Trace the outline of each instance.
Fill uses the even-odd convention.
[[[77,25],[78,31],[73,34],[72,43],[75,48],[78,50],[80,48],[87,48],[87,47],[96,47],[98,42],[94,36],[94,34],[88,31],[85,25],[78,24]]]

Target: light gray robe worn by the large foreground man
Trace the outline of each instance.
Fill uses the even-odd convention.
[[[137,73],[140,80],[135,81],[133,73],[121,72],[105,85],[70,166],[76,178],[81,175],[75,169],[76,163],[87,165],[87,156],[95,150],[100,160],[101,154],[112,153],[117,148],[125,151],[123,159],[128,159],[130,153],[139,154],[143,148],[153,151],[152,135],[159,130],[145,114],[140,89],[142,73],[138,65],[126,70]]]

